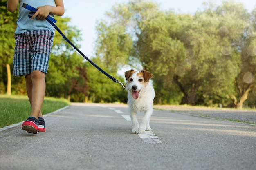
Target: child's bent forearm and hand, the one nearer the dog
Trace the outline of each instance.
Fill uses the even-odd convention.
[[[38,18],[44,20],[49,15],[49,13],[57,16],[63,15],[65,11],[63,0],[55,0],[55,4],[56,7],[50,5],[37,7],[36,13],[31,18]]]

